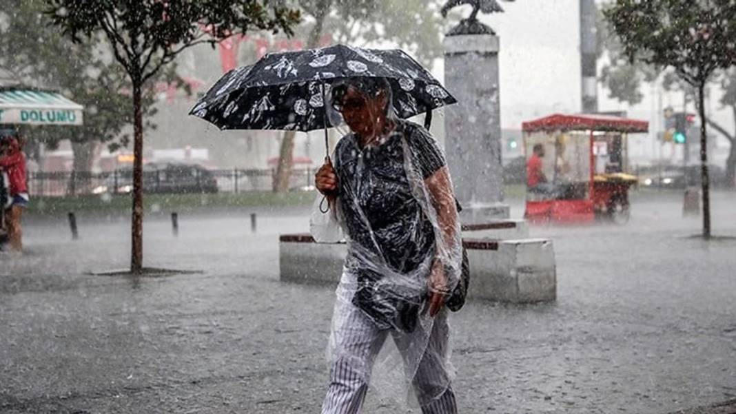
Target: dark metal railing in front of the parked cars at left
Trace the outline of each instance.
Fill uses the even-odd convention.
[[[310,189],[314,185],[313,168],[291,171],[290,190]],[[227,170],[166,169],[145,170],[144,191],[147,193],[244,193],[271,191],[275,169]],[[32,172],[28,174],[28,191],[33,196],[78,196],[85,194],[130,193],[132,172],[130,169],[102,173],[88,171]]]

